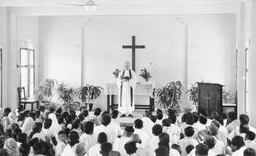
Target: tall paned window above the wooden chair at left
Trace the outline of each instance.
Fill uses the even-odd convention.
[[[25,87],[26,97],[34,95],[35,53],[34,49],[20,49],[20,87]]]

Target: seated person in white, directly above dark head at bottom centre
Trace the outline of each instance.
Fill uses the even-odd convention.
[[[125,127],[124,136],[115,139],[113,142],[113,151],[119,151],[122,156],[127,156],[128,154],[125,151],[125,143],[131,141],[131,136],[134,133],[134,129],[131,126]]]

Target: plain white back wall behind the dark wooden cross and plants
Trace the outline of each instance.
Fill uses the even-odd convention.
[[[153,76],[150,81],[158,87],[172,80],[190,85],[203,77],[206,82],[224,84],[234,90],[234,16],[189,16],[183,20],[173,17],[90,20],[40,17],[39,78],[56,78],[73,87],[82,83],[101,86],[114,83],[113,70],[131,60],[131,50],[121,49],[121,46],[130,44],[131,36],[135,35],[138,44],[146,45],[146,49],[137,50],[137,72],[143,67],[148,68]],[[186,25],[189,27],[189,46],[186,44]],[[188,82],[184,82],[187,79]],[[139,78],[139,82],[143,80]],[[96,101],[96,107],[105,106],[106,99],[102,95]]]

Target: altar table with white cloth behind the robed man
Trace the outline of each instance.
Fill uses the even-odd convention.
[[[105,95],[107,95],[107,108],[117,109],[118,104],[114,103],[114,98],[119,95],[119,88],[117,84],[106,84]],[[138,95],[147,96],[149,99],[148,104],[135,103],[135,109],[148,109],[154,111],[154,84],[137,84],[134,90],[135,99]]]

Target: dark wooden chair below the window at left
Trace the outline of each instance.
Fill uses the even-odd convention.
[[[37,109],[39,107],[39,101],[34,99],[27,99],[26,98],[26,92],[25,87],[18,87],[18,98],[19,98],[19,106],[24,105],[24,110],[26,109],[26,104],[31,104],[31,110],[33,110],[34,103],[37,104]]]

